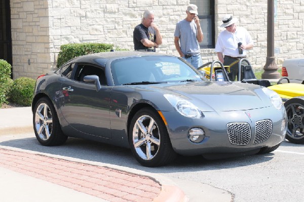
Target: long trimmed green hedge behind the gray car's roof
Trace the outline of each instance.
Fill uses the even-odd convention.
[[[78,56],[92,53],[108,52],[113,49],[111,44],[85,43],[85,44],[65,44],[60,46],[57,58],[57,68]]]

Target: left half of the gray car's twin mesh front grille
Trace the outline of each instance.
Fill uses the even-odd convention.
[[[251,130],[248,123],[227,124],[227,132],[231,144],[247,145],[250,142]]]

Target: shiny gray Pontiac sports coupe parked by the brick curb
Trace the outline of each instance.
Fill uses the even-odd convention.
[[[268,88],[210,82],[182,58],[135,51],[81,56],[39,76],[32,110],[42,145],[70,136],[130,147],[147,167],[177,154],[272,152],[287,123]]]

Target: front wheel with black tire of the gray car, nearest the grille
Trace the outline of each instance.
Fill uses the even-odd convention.
[[[163,120],[151,108],[140,109],[132,118],[129,143],[136,160],[145,167],[164,166],[176,157]]]

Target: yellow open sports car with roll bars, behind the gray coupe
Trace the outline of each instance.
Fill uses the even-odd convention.
[[[237,61],[238,62],[238,61]],[[220,61],[213,61],[198,69],[210,80],[231,81],[230,66],[223,66]],[[210,66],[211,65],[211,66]],[[241,80],[242,79],[242,80]],[[287,83],[281,83],[282,80]],[[247,59],[239,61],[238,82],[256,84],[267,87],[280,95],[284,101],[288,117],[286,139],[295,144],[304,144],[304,85],[289,83],[289,79],[283,77],[277,85],[271,86],[269,80],[257,79]]]

